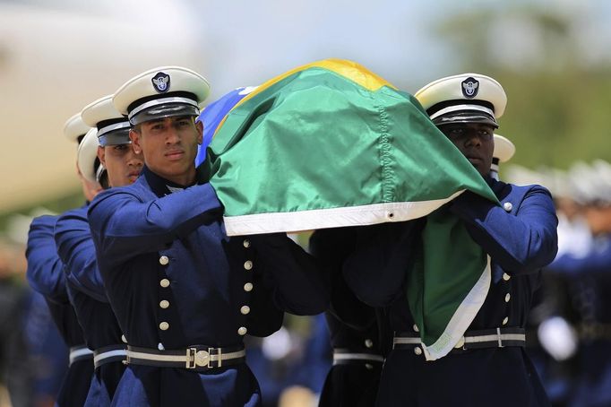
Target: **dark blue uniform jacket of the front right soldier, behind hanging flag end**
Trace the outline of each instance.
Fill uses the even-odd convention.
[[[469,330],[524,327],[539,269],[557,250],[557,219],[542,186],[512,186],[488,180],[502,206],[470,193],[451,204],[469,234],[492,258],[493,282]],[[413,332],[405,296],[409,247],[423,220],[364,229],[344,275],[357,295],[375,307],[389,307],[396,332]],[[460,273],[460,270],[456,271]],[[383,368],[377,405],[542,406],[548,405],[535,369],[519,347],[451,353],[426,361],[409,350],[393,350]]]

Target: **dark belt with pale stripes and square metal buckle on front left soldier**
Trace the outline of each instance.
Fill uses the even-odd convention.
[[[158,351],[127,345],[127,364],[155,366],[158,368],[188,368],[196,371],[244,363],[244,345],[213,348],[192,345],[183,350]]]

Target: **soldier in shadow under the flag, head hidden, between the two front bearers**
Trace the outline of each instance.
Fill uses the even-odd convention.
[[[331,333],[333,366],[319,406],[373,406],[383,365],[381,310],[369,307],[349,289],[341,273],[346,257],[355,250],[354,228],[319,229],[310,238],[310,250],[331,271],[331,307],[325,312]],[[388,335],[386,335],[388,336]],[[392,339],[391,339],[392,340]]]

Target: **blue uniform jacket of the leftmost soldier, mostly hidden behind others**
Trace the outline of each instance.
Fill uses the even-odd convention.
[[[69,302],[66,290],[64,264],[59,259],[54,239],[56,216],[44,215],[35,218],[30,224],[26,258],[26,276],[33,290],[41,293],[59,333],[69,347],[83,345],[81,325]],[[92,359],[74,362],[64,377],[56,397],[59,407],[81,407],[87,397],[93,373]]]

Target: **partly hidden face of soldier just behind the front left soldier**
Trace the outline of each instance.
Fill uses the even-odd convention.
[[[144,165],[142,152],[134,152],[132,144],[98,147],[98,157],[107,169],[110,186],[133,184]]]

